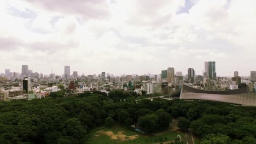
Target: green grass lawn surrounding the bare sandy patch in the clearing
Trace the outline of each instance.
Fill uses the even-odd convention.
[[[97,131],[100,131],[100,130],[112,131],[114,134],[118,134],[118,131],[125,131],[124,134],[126,136],[138,135],[138,138],[135,139],[135,140],[125,140],[125,141],[111,140],[108,135],[96,133]],[[95,136],[95,135],[98,135],[98,136]],[[159,136],[147,136],[147,135],[139,134],[136,131],[132,131],[132,130],[127,129],[127,128],[123,128],[119,125],[115,125],[112,128],[101,127],[101,128],[96,128],[96,129],[92,130],[91,133],[88,136],[88,139],[90,139],[90,140],[88,140],[86,143],[90,143],[90,144],[94,144],[94,143],[98,143],[98,144],[106,144],[106,143],[108,143],[108,144],[112,144],[112,143],[122,143],[122,144],[126,144],[126,143],[158,143],[158,142],[160,142],[160,140],[164,141],[165,137],[166,137],[167,141],[174,140],[177,135],[181,135],[181,137],[184,137],[184,134],[179,132],[179,131],[172,131],[172,132],[162,134],[162,135],[159,135]]]

